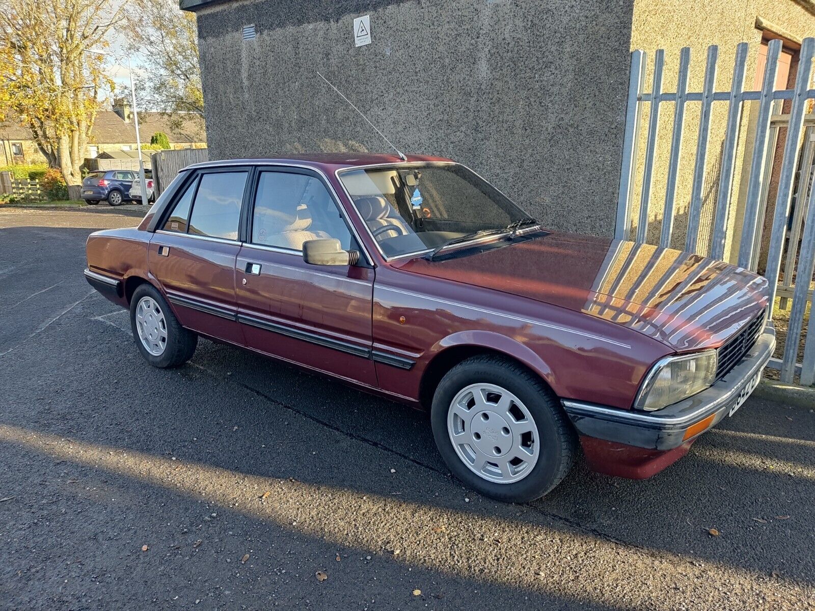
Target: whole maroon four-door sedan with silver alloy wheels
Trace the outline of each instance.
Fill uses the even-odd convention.
[[[192,165],[87,258],[153,366],[200,335],[425,407],[452,472],[507,501],[552,490],[578,448],[601,473],[659,472],[775,343],[760,276],[547,231],[435,157]]]

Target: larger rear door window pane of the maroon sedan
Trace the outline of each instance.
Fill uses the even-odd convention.
[[[195,235],[237,240],[240,202],[244,197],[245,185],[246,172],[201,174],[187,231]]]

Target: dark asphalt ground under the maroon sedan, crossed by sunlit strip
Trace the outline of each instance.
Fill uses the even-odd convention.
[[[496,503],[421,412],[209,341],[149,367],[82,277],[135,222],[0,209],[0,608],[815,609],[812,410]]]

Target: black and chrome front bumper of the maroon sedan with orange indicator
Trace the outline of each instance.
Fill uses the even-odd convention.
[[[625,411],[571,400],[564,400],[563,407],[581,437],[650,451],[686,448],[756,388],[757,376],[774,348],[775,330],[769,323],[756,344],[724,378],[709,389],[659,411]]]

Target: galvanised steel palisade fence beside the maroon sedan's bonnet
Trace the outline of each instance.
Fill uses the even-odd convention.
[[[797,357],[807,306],[815,298],[812,287],[815,266],[815,188],[812,187],[815,167],[813,166],[815,114],[807,114],[808,107],[812,106],[810,100],[815,99],[815,89],[810,85],[813,77],[815,38],[804,38],[801,44],[795,86],[791,89],[776,88],[778,58],[781,51],[780,40],[769,42],[761,89],[745,90],[748,45],[746,42],[739,43],[736,47],[730,89],[725,91],[716,90],[718,46],[707,48],[704,80],[700,91],[688,90],[691,70],[689,47],[683,48],[679,55],[675,91],[663,90],[665,68],[663,50],[654,53],[650,91],[645,90],[645,51],[632,52],[615,238],[643,243],[648,239],[650,212],[654,209],[651,202],[654,191],[655,157],[659,137],[662,135],[660,112],[663,110],[663,103],[672,103],[672,130],[667,165],[659,167],[659,171],[664,173],[666,185],[663,204],[658,206],[662,209],[659,246],[669,248],[672,240],[676,240],[674,221],[677,216],[677,181],[683,152],[687,151],[687,147],[683,148],[682,142],[687,131],[685,113],[689,104],[698,103],[693,174],[685,211],[687,229],[684,248],[691,253],[725,259],[726,240],[735,239],[739,227],[734,221],[738,219],[738,213],[742,214],[738,265],[756,270],[760,258],[765,255],[764,275],[769,280],[771,310],[777,295],[781,297],[781,306],[784,309],[789,305],[788,300],[792,300],[784,355],[780,361],[773,360],[771,367],[781,370],[781,378],[785,382],[792,382],[794,376],[800,374],[802,385],[813,385],[815,332],[809,332],[804,340],[804,356],[801,363],[797,363]],[[645,123],[645,103],[649,103],[650,108],[645,125],[644,158],[639,160],[641,124]],[[705,196],[714,192],[712,184],[706,185],[706,181],[710,180],[710,172],[707,170],[710,165],[708,145],[711,135],[711,115],[714,106],[720,103],[727,103],[727,118],[716,171],[718,185],[712,204],[712,227],[710,239],[700,240],[700,219],[703,218]],[[744,142],[744,138],[741,137],[745,131],[746,103],[757,103],[758,107],[753,108],[754,112],[748,117],[754,134],[751,149],[747,147],[749,143]],[[785,103],[788,107],[786,113],[782,112]],[[782,129],[786,130],[786,137],[783,140],[782,156],[777,160],[776,152],[780,149],[778,139]],[[741,204],[734,189],[737,170],[742,171],[742,168],[737,168],[740,147],[744,153],[744,170],[747,170],[746,196]],[[641,186],[638,194],[634,192],[637,183]],[[762,233],[765,217],[768,215],[771,186],[775,189],[775,205],[772,209],[768,245],[763,242]],[[639,213],[637,218],[633,218],[632,209],[637,196]],[[766,220],[769,224],[769,218]]]

